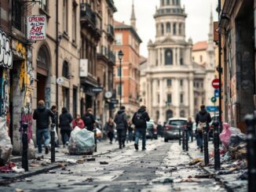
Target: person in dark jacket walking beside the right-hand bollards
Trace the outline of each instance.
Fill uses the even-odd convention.
[[[208,132],[211,118],[204,105],[201,105],[200,109],[196,114],[196,135],[199,141],[200,151],[203,152],[203,127],[206,127]]]

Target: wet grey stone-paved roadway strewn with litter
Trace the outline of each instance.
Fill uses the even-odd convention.
[[[1,191],[225,191],[214,179],[195,178],[207,173],[196,165],[188,165],[192,160],[177,140],[147,142],[145,151],[134,150],[133,143],[119,150],[116,143],[111,146],[107,141],[101,142],[98,150],[103,154],[95,155],[95,161],[20,179],[1,187]],[[85,157],[64,154],[65,158]]]

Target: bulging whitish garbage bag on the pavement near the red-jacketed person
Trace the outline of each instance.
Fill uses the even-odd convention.
[[[94,133],[75,127],[68,142],[70,154],[93,154],[95,147]]]

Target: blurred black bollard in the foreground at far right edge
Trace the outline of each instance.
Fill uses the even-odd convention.
[[[248,192],[256,189],[256,119],[253,114],[245,117],[247,124]]]

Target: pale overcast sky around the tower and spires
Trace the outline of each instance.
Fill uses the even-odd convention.
[[[133,0],[114,0],[118,12],[115,13],[115,20],[130,24],[131,5]],[[134,0],[135,16],[137,18],[137,32],[142,39],[141,55],[148,56],[147,43],[149,39],[155,39],[155,6],[159,7],[160,0]],[[214,20],[218,20],[218,13],[215,9],[217,0],[181,0],[185,5],[186,38],[192,38],[193,42],[207,40],[209,31],[210,8],[214,13]]]

